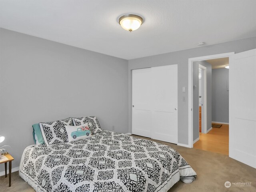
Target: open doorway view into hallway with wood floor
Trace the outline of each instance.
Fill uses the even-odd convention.
[[[229,59],[193,62],[193,144],[195,148],[228,155]],[[215,128],[213,124],[220,124]],[[218,126],[217,126],[218,127]]]

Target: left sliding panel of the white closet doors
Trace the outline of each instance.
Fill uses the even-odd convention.
[[[132,134],[151,138],[151,68],[132,70]]]

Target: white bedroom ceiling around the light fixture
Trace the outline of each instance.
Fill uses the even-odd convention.
[[[128,32],[123,14],[144,23]],[[0,0],[0,27],[133,59],[254,37],[256,0]]]

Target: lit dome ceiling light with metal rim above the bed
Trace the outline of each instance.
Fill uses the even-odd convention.
[[[127,14],[119,18],[119,24],[124,30],[134,31],[138,29],[143,22],[143,19],[138,15]]]

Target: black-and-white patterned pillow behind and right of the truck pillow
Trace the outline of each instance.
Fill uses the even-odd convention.
[[[78,117],[72,118],[74,126],[82,125],[88,123],[89,129],[92,134],[101,132],[100,123],[96,116]]]

